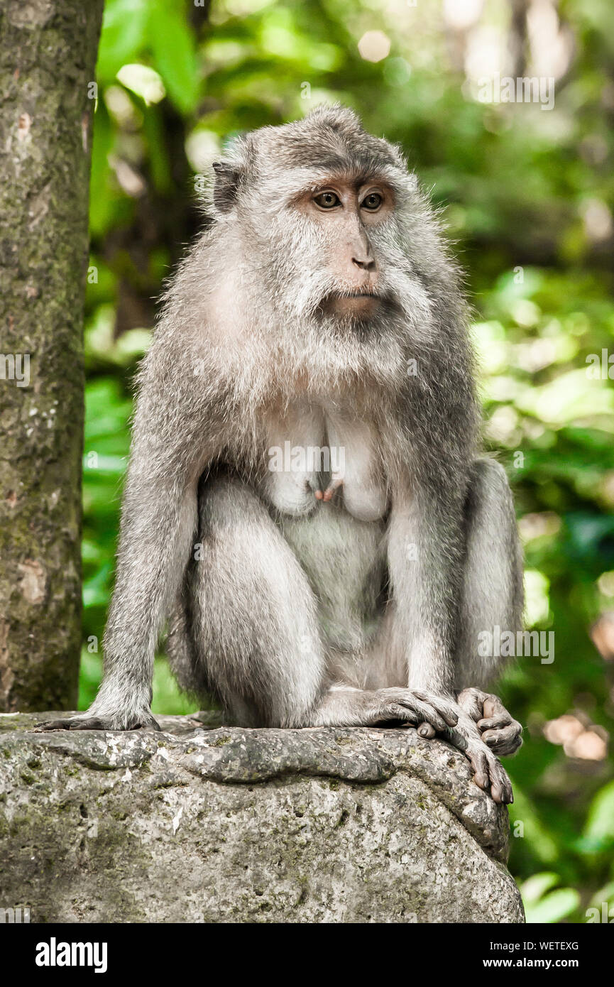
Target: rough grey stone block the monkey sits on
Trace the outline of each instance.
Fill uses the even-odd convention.
[[[56,716],[0,716],[0,905],[32,922],[524,921],[507,811],[442,740]]]

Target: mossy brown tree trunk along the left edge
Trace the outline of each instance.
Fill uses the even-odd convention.
[[[83,302],[103,0],[0,0],[0,709],[76,705]]]

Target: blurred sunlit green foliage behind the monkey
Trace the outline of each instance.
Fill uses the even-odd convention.
[[[237,132],[340,100],[444,207],[527,622],[555,632],[554,662],[522,658],[502,689],[527,727],[510,867],[535,921],[614,904],[613,64],[608,0],[108,0],[97,72],[81,707],[101,674],[130,381],[198,227],[195,176]],[[480,102],[494,72],[554,77],[554,109]],[[155,693],[158,712],[191,709],[163,659]]]

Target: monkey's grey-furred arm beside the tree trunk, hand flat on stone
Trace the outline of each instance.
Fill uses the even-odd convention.
[[[41,729],[157,726],[150,712],[154,651],[189,558],[196,485],[211,449],[200,437],[205,425],[189,360],[184,354],[174,371],[154,347],[140,373],[103,683],[86,713]]]

